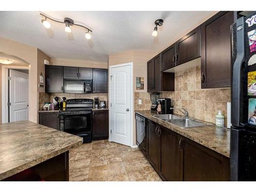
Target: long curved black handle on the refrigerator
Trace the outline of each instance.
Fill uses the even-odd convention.
[[[240,101],[241,101],[241,67],[245,60],[244,48],[244,17],[237,20],[237,57],[233,65],[232,74],[232,105],[231,105],[231,123],[233,126],[240,125]]]

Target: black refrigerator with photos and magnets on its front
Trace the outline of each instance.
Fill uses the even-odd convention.
[[[256,12],[231,26],[231,181],[256,181]]]

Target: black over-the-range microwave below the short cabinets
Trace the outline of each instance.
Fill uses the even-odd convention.
[[[92,93],[92,80],[64,80],[64,93]]]

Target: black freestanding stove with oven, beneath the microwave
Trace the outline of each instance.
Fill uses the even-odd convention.
[[[60,130],[92,142],[93,99],[67,99],[66,108],[59,111]]]

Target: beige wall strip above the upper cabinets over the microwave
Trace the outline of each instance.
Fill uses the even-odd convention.
[[[75,60],[51,57],[50,65],[108,69],[108,62]]]

